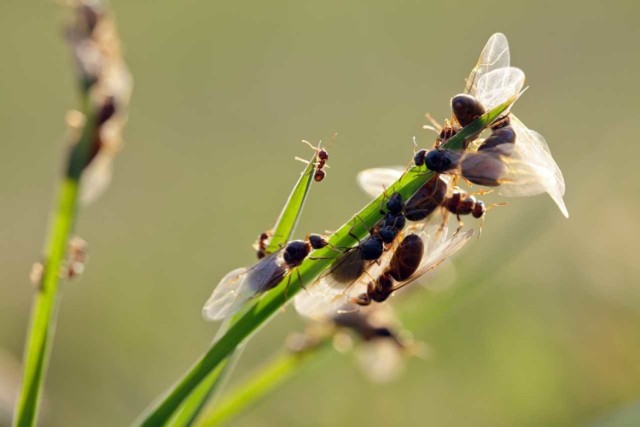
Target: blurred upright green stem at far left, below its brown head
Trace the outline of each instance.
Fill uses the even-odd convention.
[[[44,274],[31,310],[24,357],[24,379],[16,409],[15,426],[31,426],[36,421],[56,325],[60,271],[75,219],[78,184],[75,179],[65,178],[58,195],[47,244]]]

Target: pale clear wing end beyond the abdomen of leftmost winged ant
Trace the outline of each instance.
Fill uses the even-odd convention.
[[[206,320],[223,320],[236,313],[252,296],[247,286],[247,268],[241,267],[227,273],[213,290],[202,308]]]

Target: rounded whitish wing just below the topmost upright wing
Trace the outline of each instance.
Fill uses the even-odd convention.
[[[489,111],[518,95],[524,78],[524,71],[519,68],[498,68],[480,77],[471,94]]]

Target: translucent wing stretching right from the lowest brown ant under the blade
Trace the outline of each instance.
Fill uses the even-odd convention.
[[[422,261],[420,261],[420,266],[408,280],[397,284],[394,291],[419,279],[422,275],[433,270],[458,252],[473,237],[474,231],[467,230],[448,236],[446,227],[441,229],[440,226],[434,224],[426,227],[420,234],[425,243],[424,255]]]

